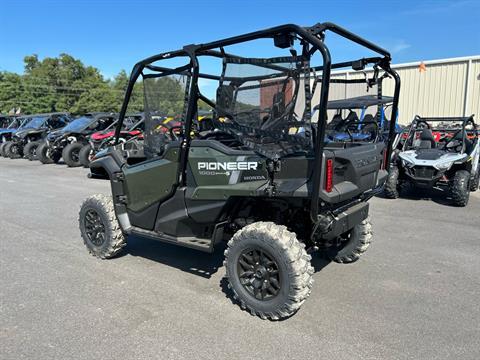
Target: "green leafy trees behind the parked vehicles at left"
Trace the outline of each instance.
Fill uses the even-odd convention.
[[[0,72],[0,112],[21,109],[33,114],[68,111],[81,114],[93,111],[120,111],[127,88],[128,74],[122,70],[113,80],[84,65],[68,54],[39,60],[37,55],[24,58],[23,75]],[[183,106],[184,92],[171,79],[157,81],[156,90],[166,96],[159,106],[164,112]],[[135,85],[128,112],[143,111],[143,84]]]

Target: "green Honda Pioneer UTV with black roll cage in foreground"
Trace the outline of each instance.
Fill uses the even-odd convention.
[[[333,63],[327,34],[375,56]],[[255,57],[243,55],[252,48]],[[368,200],[387,178],[395,121],[387,142],[335,142],[325,136],[334,115],[327,104],[368,91],[381,106],[388,79],[396,119],[400,79],[390,61],[331,23],[282,25],[140,61],[116,136],[142,81],[144,157],[125,157],[122,144],[96,154],[90,166],[109,177],[112,196],[81,206],[88,250],[111,258],[128,235],[207,253],[227,241],[226,277],[240,306],[262,319],[294,314],[311,292],[311,252],[349,263],[372,240]],[[341,68],[349,78],[331,76]],[[206,107],[212,116],[200,122]],[[177,112],[178,125],[167,127],[162,112]]]

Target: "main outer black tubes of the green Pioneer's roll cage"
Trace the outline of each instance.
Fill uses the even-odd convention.
[[[138,77],[142,74],[142,71],[145,67],[148,68],[148,65],[152,62],[159,61],[162,59],[170,59],[178,56],[188,56],[191,61],[191,69],[193,70],[192,72],[192,79],[190,82],[190,89],[189,89],[189,99],[188,99],[188,105],[186,108],[186,114],[185,114],[185,134],[190,134],[191,126],[192,126],[192,118],[193,115],[195,114],[196,110],[196,102],[199,98],[198,95],[198,76],[199,76],[199,66],[198,66],[198,61],[196,55],[204,52],[204,51],[209,51],[213,50],[216,48],[222,48],[224,46],[229,46],[229,45],[234,45],[237,43],[242,43],[242,42],[247,42],[251,40],[256,40],[259,38],[266,38],[266,37],[273,37],[278,34],[296,34],[298,35],[303,41],[308,42],[311,46],[312,49],[309,52],[309,55],[313,55],[315,51],[319,51],[320,54],[322,55],[323,58],[323,66],[320,68],[316,68],[318,70],[322,70],[322,87],[320,89],[320,102],[318,104],[319,106],[319,115],[318,115],[318,123],[317,123],[317,130],[315,134],[315,159],[314,159],[314,171],[313,171],[313,186],[312,186],[312,194],[311,194],[311,206],[310,206],[310,218],[312,222],[318,223],[318,212],[319,212],[319,193],[320,193],[320,185],[321,185],[321,179],[323,176],[322,172],[322,161],[323,161],[323,151],[324,151],[324,138],[325,138],[325,128],[326,128],[326,122],[327,122],[327,102],[328,102],[328,94],[329,94],[329,85],[330,85],[330,74],[331,74],[331,69],[332,69],[332,60],[330,56],[330,52],[328,48],[324,44],[324,38],[325,38],[325,31],[331,31],[333,33],[336,33],[337,35],[344,37],[354,43],[357,43],[377,54],[380,54],[383,56],[381,58],[380,62],[378,65],[385,70],[388,74],[392,75],[394,81],[395,81],[395,90],[394,90],[394,101],[393,101],[393,106],[392,106],[392,119],[397,118],[397,112],[398,112],[398,98],[400,95],[400,77],[398,74],[391,69],[390,67],[390,61],[391,61],[391,56],[390,53],[373,44],[372,42],[363,39],[362,37],[355,35],[354,33],[336,25],[330,22],[326,23],[318,23],[312,27],[301,27],[298,25],[294,24],[287,24],[287,25],[280,25],[277,27],[273,27],[270,29],[265,29],[265,30],[260,30],[260,31],[255,31],[243,35],[238,35],[206,44],[199,44],[199,45],[187,45],[185,46],[182,50],[177,50],[177,51],[172,51],[172,52],[167,52],[167,53],[162,53],[158,55],[154,55],[152,57],[149,57],[147,59],[144,59],[133,67],[132,73],[130,75],[130,80],[128,82],[128,86],[125,92],[125,98],[122,104],[122,108],[120,110],[119,114],[119,121],[117,124],[117,128],[115,130],[115,144],[118,143],[118,139],[120,137],[120,131],[121,131],[121,126],[125,117],[125,114],[127,112],[127,107],[128,103],[130,100],[130,97],[133,92],[133,87],[138,79]],[[199,54],[200,55],[200,54]],[[371,59],[363,59],[362,64],[367,65],[368,63],[371,62]],[[351,61],[351,62],[343,62],[341,65],[343,67],[347,66],[353,66],[357,64],[358,62],[356,61]],[[337,66],[333,65],[334,68]],[[390,121],[390,129],[389,129],[389,138],[388,138],[388,145],[387,145],[387,154],[386,154],[386,163],[384,164],[384,167],[386,169],[389,168],[390,165],[390,158],[392,154],[392,146],[393,146],[393,136],[395,134],[395,124],[396,121]],[[188,148],[190,145],[190,137],[185,136],[182,145],[181,145],[181,151],[180,151],[180,157],[179,157],[179,162],[180,162],[180,178],[177,178],[177,183],[182,182],[185,184],[186,181],[186,161],[187,161],[187,154],[188,154]]]

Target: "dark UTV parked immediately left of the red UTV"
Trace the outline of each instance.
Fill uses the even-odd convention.
[[[38,160],[50,164],[63,158],[69,167],[81,166],[80,149],[88,144],[88,137],[107,129],[117,119],[118,116],[112,113],[91,113],[73,120],[68,126],[48,134],[46,141],[38,147]]]

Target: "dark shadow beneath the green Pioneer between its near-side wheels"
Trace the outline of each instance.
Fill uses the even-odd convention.
[[[166,244],[148,238],[129,236],[123,255],[139,256],[209,279],[223,266],[225,246],[218,244],[213,254]]]

